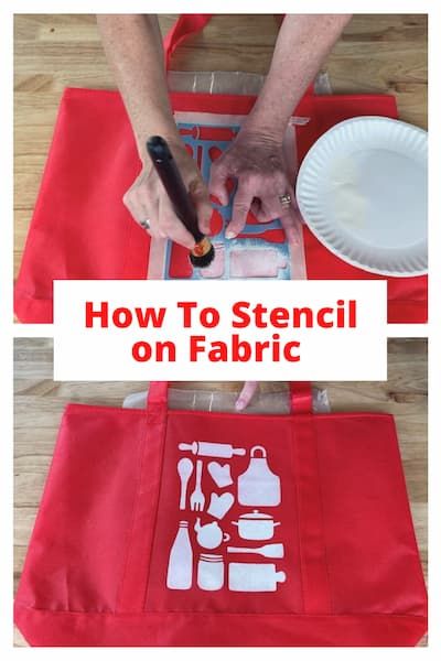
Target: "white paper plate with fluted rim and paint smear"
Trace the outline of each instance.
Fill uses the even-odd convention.
[[[308,152],[297,201],[334,254],[383,275],[427,273],[427,132],[385,117],[333,127]]]

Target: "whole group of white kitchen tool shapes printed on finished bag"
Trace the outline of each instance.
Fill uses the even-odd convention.
[[[180,453],[190,452],[197,458],[178,460],[176,509],[182,518],[169,550],[166,587],[170,590],[196,587],[216,592],[226,587],[235,593],[276,592],[287,574],[267,561],[284,557],[284,545],[277,539],[281,522],[275,521],[272,513],[256,509],[281,505],[280,478],[270,468],[267,449],[255,445],[247,451],[205,441],[180,443],[178,447]],[[228,459],[230,464],[206,462],[207,457]],[[236,457],[247,458],[245,472],[235,466]],[[227,488],[222,494],[216,491]],[[228,519],[236,500],[234,491],[241,511],[237,520]],[[250,506],[255,509],[247,510]],[[236,531],[235,539],[223,529],[224,521]],[[261,544],[268,540],[271,543]],[[232,543],[227,545],[228,542]],[[255,542],[259,543],[254,545]],[[243,554],[250,555],[252,562],[241,561]]]

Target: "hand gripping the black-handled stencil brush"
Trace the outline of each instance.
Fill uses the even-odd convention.
[[[207,187],[195,162],[182,142],[172,143],[170,149],[178,169],[190,193],[197,213],[200,230],[209,234],[212,205]],[[122,198],[135,220],[154,238],[169,238],[191,250],[195,240],[173,210],[165,189],[150,163],[144,163],[141,173]]]

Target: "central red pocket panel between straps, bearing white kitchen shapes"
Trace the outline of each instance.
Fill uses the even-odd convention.
[[[169,412],[147,610],[302,611],[289,420]]]

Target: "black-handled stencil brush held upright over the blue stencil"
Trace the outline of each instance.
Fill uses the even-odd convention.
[[[214,248],[211,240],[198,228],[196,209],[166,141],[160,136],[153,136],[147,142],[147,151],[169,195],[174,213],[196,242],[190,251],[190,261],[200,269],[208,267],[214,259]]]

